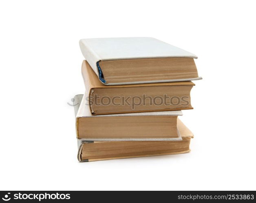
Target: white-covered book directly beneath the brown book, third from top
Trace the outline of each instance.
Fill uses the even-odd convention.
[[[181,140],[177,129],[177,117],[182,115],[181,111],[92,115],[86,97],[86,94],[83,97],[76,95],[73,100],[73,106],[80,105],[76,115],[76,134],[80,140]]]

